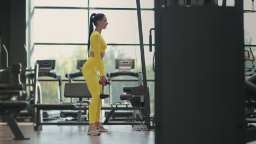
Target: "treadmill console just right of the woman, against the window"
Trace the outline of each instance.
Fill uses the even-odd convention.
[[[131,71],[134,69],[135,59],[115,59],[115,68],[119,71]]]

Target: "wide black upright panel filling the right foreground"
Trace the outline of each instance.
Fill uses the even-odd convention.
[[[245,143],[242,11],[156,10],[156,143]]]

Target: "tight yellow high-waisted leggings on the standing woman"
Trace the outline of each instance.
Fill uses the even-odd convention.
[[[83,65],[82,73],[86,80],[88,89],[92,95],[89,105],[89,123],[100,122],[102,85],[98,81],[100,78],[97,74],[95,57],[89,57]]]

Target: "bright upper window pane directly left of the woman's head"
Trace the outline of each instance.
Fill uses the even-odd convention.
[[[35,9],[35,43],[85,43],[88,11],[81,9]]]

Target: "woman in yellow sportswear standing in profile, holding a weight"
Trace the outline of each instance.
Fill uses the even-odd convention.
[[[94,26],[96,27],[94,31]],[[101,36],[102,29],[106,29],[108,25],[107,18],[104,14],[91,14],[88,38],[88,51],[90,55],[88,61],[83,65],[83,76],[86,80],[88,89],[92,95],[89,106],[89,129],[88,135],[100,135],[99,132],[108,131],[100,122],[102,85],[106,85],[108,80],[105,76],[103,57],[107,44]],[[94,32],[93,32],[94,31]],[[91,44],[91,49],[90,49]],[[99,79],[97,72],[100,71],[101,78]],[[101,81],[100,83],[98,81]]]

